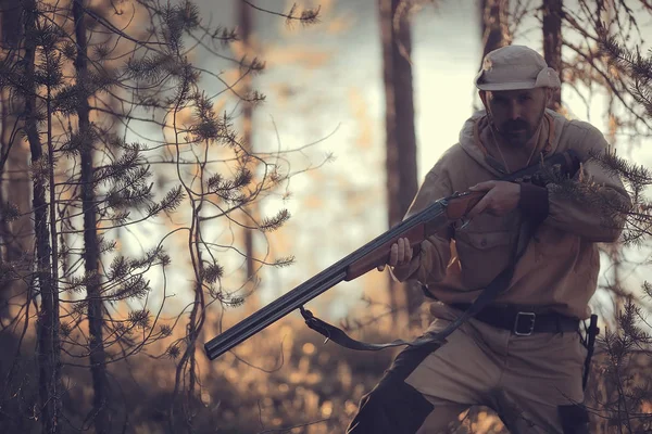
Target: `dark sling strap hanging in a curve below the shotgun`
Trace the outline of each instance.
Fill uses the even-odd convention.
[[[468,321],[474,315],[482,310],[487,305],[489,305],[496,297],[507,288],[512,277],[514,276],[514,268],[516,267],[516,263],[525,252],[525,247],[527,246],[528,241],[530,240],[531,234],[534,233],[534,225],[529,221],[524,221],[521,226],[521,230],[518,233],[518,240],[516,242],[512,260],[510,265],[498,275],[489,285],[478,295],[478,297],[473,302],[473,304],[466,309],[462,315],[455,318],[446,329],[440,332],[426,333],[413,341],[404,341],[404,340],[396,340],[392,342],[388,342],[385,344],[371,344],[367,342],[362,342],[354,340],[349,336],[343,330],[329,324],[328,322],[321,320],[315,317],[310,310],[305,309],[303,306],[300,307],[301,315],[305,320],[305,323],[309,328],[316,331],[326,337],[326,342],[328,340],[335,342],[336,344],[343,346],[344,348],[355,349],[355,350],[366,350],[366,352],[376,352],[379,349],[390,348],[394,346],[423,346],[426,344],[437,343],[442,345],[446,343],[446,339],[451,335],[464,322]]]

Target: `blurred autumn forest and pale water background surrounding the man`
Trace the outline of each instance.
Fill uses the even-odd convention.
[[[652,158],[641,82],[601,46],[647,52],[642,0],[0,4],[3,432],[343,432],[398,350],[324,343],[299,312],[213,361],[203,344],[400,221],[480,108],[491,49],[544,54],[563,80],[550,108]],[[650,252],[601,252],[592,308],[617,337],[623,311],[644,318]],[[372,342],[429,322],[418,288],[387,271],[308,307]],[[592,432],[652,430],[641,330],[615,365],[599,350]],[[489,409],[461,420],[457,433],[506,432]]]

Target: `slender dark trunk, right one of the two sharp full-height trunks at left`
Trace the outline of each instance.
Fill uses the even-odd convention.
[[[73,17],[75,21],[75,38],[77,40],[77,58],[75,69],[77,72],[77,85],[88,81],[88,41],[86,37],[86,23],[84,13],[84,0],[75,0],[73,3]],[[103,434],[111,431],[109,416],[109,384],[106,381],[106,357],[104,354],[104,339],[102,335],[103,303],[100,292],[100,253],[98,247],[96,194],[93,182],[93,133],[88,118],[90,106],[86,90],[79,99],[77,117],[79,123],[78,135],[83,138],[80,149],[82,158],[82,204],[84,209],[84,264],[88,284],[86,286],[86,298],[88,302],[88,333],[90,335],[89,359],[92,376],[92,411],[96,433]]]

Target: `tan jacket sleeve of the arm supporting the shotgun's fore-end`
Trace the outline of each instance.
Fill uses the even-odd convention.
[[[449,196],[453,192],[449,177],[443,171],[441,161],[426,175],[405,218],[432,204],[435,201]],[[419,252],[412,257],[410,264],[390,268],[393,278],[400,282],[416,280],[422,284],[442,280],[451,258],[451,234],[430,235],[421,243]]]

